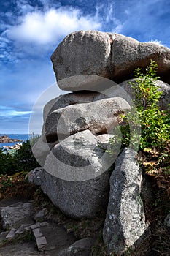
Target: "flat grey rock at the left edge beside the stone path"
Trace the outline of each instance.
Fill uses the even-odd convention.
[[[11,206],[1,207],[0,215],[3,227],[15,227],[21,221],[31,219],[33,215],[33,203],[15,203]]]

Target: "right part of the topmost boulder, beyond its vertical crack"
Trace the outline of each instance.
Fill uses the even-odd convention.
[[[136,68],[144,68],[152,61],[158,64],[158,74],[166,80],[170,70],[170,49],[152,42],[139,42],[122,34],[113,34],[112,64],[114,80],[122,81],[133,76]],[[167,78],[166,78],[167,76]]]

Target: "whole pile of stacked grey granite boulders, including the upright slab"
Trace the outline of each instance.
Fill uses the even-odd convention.
[[[32,148],[42,168],[32,170],[29,180],[69,217],[95,217],[107,209],[104,242],[120,255],[149,228],[136,151],[126,148],[117,158],[115,142],[109,157],[108,140],[121,138],[113,130],[119,131],[122,113],[133,105],[129,81],[134,69],[144,69],[150,59],[158,64],[160,104],[167,108],[170,50],[120,34],[77,31],[63,39],[51,59],[58,86],[71,93],[45,105],[42,138]]]

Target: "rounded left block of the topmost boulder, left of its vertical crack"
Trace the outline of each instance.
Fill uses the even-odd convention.
[[[51,56],[57,80],[82,74],[108,77],[110,52],[107,33],[77,31],[69,34]]]

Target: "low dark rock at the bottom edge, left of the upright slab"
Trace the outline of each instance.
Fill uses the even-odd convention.
[[[69,248],[58,252],[58,256],[89,256],[94,242],[94,238],[82,238],[69,246]]]

